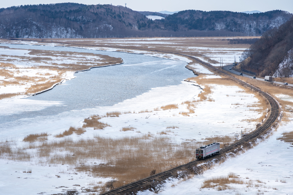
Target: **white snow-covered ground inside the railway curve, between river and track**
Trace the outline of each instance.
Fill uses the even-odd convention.
[[[211,77],[218,76],[211,75]],[[29,145],[22,141],[26,135],[47,132],[49,134],[48,140],[52,141],[57,139],[54,135],[67,130],[70,125],[81,126],[84,118],[91,114],[105,115],[106,112],[110,111],[135,111],[135,113],[121,114],[119,117],[102,118],[101,122],[108,122],[112,127],[106,127],[104,130],[98,131],[93,130],[93,128],[86,128],[84,134],[80,136],[72,134],[68,137],[73,139],[90,138],[96,133],[100,136],[124,137],[139,136],[148,132],[155,136],[162,136],[159,132],[166,130],[167,126],[174,125],[179,128],[172,129],[171,132],[167,133],[172,140],[180,143],[185,140],[200,140],[214,135],[228,134],[233,136],[235,133],[239,133],[241,129],[254,128],[255,123],[245,121],[245,119],[249,120],[250,118],[259,117],[258,112],[251,110],[255,109],[255,107],[249,106],[252,102],[257,101],[253,95],[241,92],[241,89],[236,86],[215,84],[211,87],[212,94],[210,97],[214,101],[199,102],[196,108],[194,108],[195,113],[190,114],[190,116],[179,114],[180,111],[188,111],[186,105],[181,105],[181,103],[198,99],[197,95],[202,90],[193,85],[193,83],[182,82],[176,86],[154,88],[147,93],[114,106],[71,111],[57,116],[38,117],[33,120],[25,119],[21,124],[13,127],[8,126],[6,130],[3,130],[1,132],[1,140],[13,140],[15,147],[21,148]],[[10,105],[4,105],[3,110],[8,110],[10,107],[15,108],[17,105],[22,105],[23,108],[21,107],[21,109],[26,109],[23,104],[28,106],[32,103],[34,102],[13,101]],[[50,104],[52,104],[51,106],[59,105],[58,102],[35,103],[38,103],[35,107],[29,107],[31,110],[38,110],[42,107],[50,106]],[[237,103],[241,103],[241,105],[232,105]],[[178,104],[178,109],[165,111],[160,109],[161,106],[166,104]],[[155,111],[154,108],[157,108],[157,110]],[[217,113],[214,112],[215,108],[217,108]],[[152,112],[139,113],[144,109],[152,110]],[[6,111],[6,114],[9,114],[8,112],[15,113],[18,111],[17,109],[11,109]],[[129,125],[137,130],[120,131],[121,127]],[[54,194],[69,189],[80,190],[81,187],[90,188],[93,185],[97,185],[98,182],[102,185],[110,179],[94,178],[89,173],[76,172],[74,166],[70,165],[38,164],[36,161],[19,162],[5,158],[1,162],[1,170],[3,171],[0,172],[0,185],[1,191],[4,194],[18,194],[20,190],[22,194],[37,194],[41,192]],[[28,169],[31,169],[32,173],[27,173]],[[23,172],[24,170],[26,172]],[[74,186],[76,184],[80,185],[80,187]],[[27,188],[27,186],[32,188]]]

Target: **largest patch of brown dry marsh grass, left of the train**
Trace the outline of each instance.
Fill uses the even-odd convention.
[[[38,158],[41,164],[68,164],[95,177],[115,177],[115,187],[149,176],[151,170],[168,170],[194,160],[195,142],[177,143],[165,135],[111,138],[95,135],[93,138],[48,140],[12,149],[9,142],[0,143],[0,156],[15,161]],[[33,149],[33,150],[31,150]],[[105,163],[93,164],[91,162]]]

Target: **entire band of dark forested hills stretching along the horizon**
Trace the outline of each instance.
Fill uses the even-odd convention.
[[[266,30],[280,26],[292,17],[291,13],[279,10],[254,14],[185,10],[173,15],[166,15],[163,20],[153,21],[145,17],[146,13],[139,13],[124,6],[77,3],[1,8],[0,37],[99,38],[260,35]]]

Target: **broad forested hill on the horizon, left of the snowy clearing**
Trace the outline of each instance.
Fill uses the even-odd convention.
[[[1,37],[95,38],[135,30],[144,15],[123,6],[77,3],[0,9]]]

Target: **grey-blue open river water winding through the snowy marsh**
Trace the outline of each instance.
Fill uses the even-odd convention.
[[[38,111],[24,111],[0,115],[0,129],[20,119],[33,120],[39,116],[52,116],[72,110],[97,106],[113,106],[116,103],[149,91],[151,88],[177,85],[194,76],[185,68],[184,61],[168,60],[140,54],[113,51],[97,51],[73,47],[1,44],[17,49],[41,49],[54,51],[88,52],[122,58],[124,63],[108,67],[93,68],[76,73],[76,78],[57,85],[54,89],[30,96],[26,99],[60,101],[63,106],[49,106]],[[158,97],[160,98],[160,97]],[[31,119],[29,119],[31,118]],[[5,125],[6,124],[6,125]],[[9,125],[9,126],[10,126]]]

